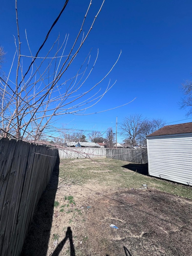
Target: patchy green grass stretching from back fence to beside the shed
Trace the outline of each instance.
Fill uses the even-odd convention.
[[[134,164],[131,164],[131,167]],[[125,167],[123,167],[125,166]],[[186,185],[176,184],[165,180],[138,173],[144,167],[142,164],[135,164],[136,170],[129,170],[129,164],[125,161],[101,158],[96,160],[60,160],[59,176],[64,182],[84,185],[86,183],[95,183],[106,187],[119,188],[140,188],[147,184],[148,188],[156,188],[182,197],[192,199],[192,189]],[[66,198],[69,203],[69,198]],[[73,199],[71,199],[73,200]]]

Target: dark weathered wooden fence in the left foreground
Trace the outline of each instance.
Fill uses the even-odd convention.
[[[0,139],[0,255],[20,255],[58,150]]]

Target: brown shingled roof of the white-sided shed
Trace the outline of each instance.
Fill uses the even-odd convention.
[[[163,128],[149,134],[147,137],[156,136],[156,135],[188,133],[188,132],[192,132],[192,122],[179,124],[179,125],[166,125]]]

